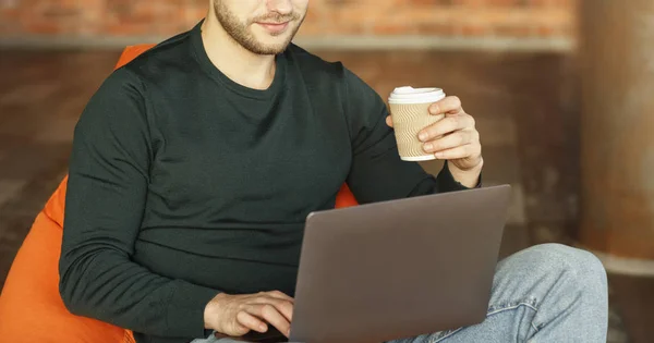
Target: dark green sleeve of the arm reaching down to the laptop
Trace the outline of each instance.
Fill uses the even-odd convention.
[[[143,93],[136,76],[114,72],[75,127],[60,293],[76,315],[158,336],[203,338],[204,308],[218,291],[131,259],[154,156]]]

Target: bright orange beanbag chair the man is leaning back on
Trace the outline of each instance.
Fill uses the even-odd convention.
[[[128,47],[117,68],[153,45]],[[66,180],[38,213],[9,271],[0,295],[0,341],[133,343],[130,330],[71,314],[59,295],[59,255]],[[356,205],[347,185],[336,207]]]

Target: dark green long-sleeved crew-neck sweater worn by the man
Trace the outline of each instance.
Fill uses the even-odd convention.
[[[214,66],[199,24],[113,72],[75,127],[60,291],[138,342],[204,338],[219,292],[293,295],[303,225],[360,203],[458,191],[398,157],[382,98],[291,45],[271,86]]]

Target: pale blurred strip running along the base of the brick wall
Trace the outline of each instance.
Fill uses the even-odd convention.
[[[122,48],[130,45],[158,42],[167,37],[66,37],[32,36],[0,37],[0,48],[66,49],[66,48]],[[504,38],[504,37],[427,37],[427,36],[344,36],[302,38],[295,44],[306,49],[338,50],[391,50],[391,49],[441,49],[441,50],[500,50],[500,51],[560,51],[574,49],[572,38]]]

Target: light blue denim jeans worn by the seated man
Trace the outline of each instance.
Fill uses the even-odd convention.
[[[607,324],[608,291],[602,262],[584,250],[543,244],[497,265],[484,322],[391,343],[604,343]],[[237,341],[193,341],[232,342]]]

